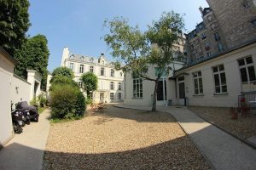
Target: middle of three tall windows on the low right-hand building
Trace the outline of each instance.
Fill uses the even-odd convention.
[[[215,94],[227,93],[227,82],[224,71],[224,65],[217,65],[212,67]]]

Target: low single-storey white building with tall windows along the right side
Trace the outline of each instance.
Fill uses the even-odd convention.
[[[177,82],[177,100],[189,105],[237,107],[239,95],[247,104],[256,102],[256,40],[183,67],[172,77]],[[251,97],[250,97],[251,96]]]

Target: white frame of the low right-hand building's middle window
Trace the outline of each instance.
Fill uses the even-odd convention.
[[[215,65],[215,66],[212,66],[212,75],[213,75],[213,85],[214,85],[214,94],[227,94],[228,93],[228,86],[227,86],[227,78],[226,78],[226,74],[225,74],[225,70],[223,71],[220,71],[220,66],[223,66],[224,68],[224,65],[221,64],[221,65]],[[218,71],[214,72],[213,69],[214,68],[218,68]],[[224,77],[225,77],[225,83],[223,83],[221,81],[221,74],[224,73]],[[218,75],[218,81],[219,81],[219,84],[216,85],[216,82],[215,82],[215,75]],[[219,87],[219,92],[216,92],[216,88]],[[226,92],[224,92],[224,87],[226,87]]]

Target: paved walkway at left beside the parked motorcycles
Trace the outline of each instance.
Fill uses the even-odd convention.
[[[1,170],[41,170],[44,148],[49,133],[49,110],[39,116],[39,122],[31,122],[23,128],[23,133],[15,134],[0,150]]]

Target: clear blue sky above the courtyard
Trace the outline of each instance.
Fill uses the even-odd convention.
[[[195,29],[202,21],[199,7],[206,8],[206,0],[30,0],[30,27],[27,34],[43,34],[48,39],[48,70],[61,66],[64,47],[73,54],[98,57],[104,53],[108,59],[111,49],[103,38],[108,28],[104,20],[122,16],[131,26],[142,30],[158,20],[166,11],[184,14],[186,31]]]

